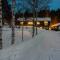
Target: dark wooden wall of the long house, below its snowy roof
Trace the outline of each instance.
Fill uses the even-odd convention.
[[[33,21],[24,21],[24,22],[23,22],[23,25],[21,24],[21,22],[23,22],[23,21],[18,21],[18,22],[16,22],[16,26],[17,26],[17,25],[18,25],[18,26],[33,26],[33,24],[28,24],[28,22],[33,22]],[[44,24],[44,21],[37,21],[37,22],[39,22],[40,24],[36,24],[36,21],[34,21],[34,26],[35,26],[35,27],[42,27],[42,28],[44,28],[44,29],[49,29],[50,21],[48,21],[48,25],[46,25],[46,26],[45,26],[45,24]]]

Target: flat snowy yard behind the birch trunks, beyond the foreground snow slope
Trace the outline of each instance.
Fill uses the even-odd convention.
[[[3,48],[11,46],[12,34],[11,28],[4,27],[2,38],[3,38]],[[27,41],[32,38],[32,29],[24,27],[23,30],[23,40]],[[15,28],[15,45],[22,43],[22,28]]]

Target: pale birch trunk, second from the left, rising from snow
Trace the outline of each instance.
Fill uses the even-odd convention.
[[[14,44],[15,42],[15,15],[14,15],[14,8],[15,8],[15,0],[12,0],[12,21],[11,21],[11,26],[12,26],[12,42],[11,44]]]

